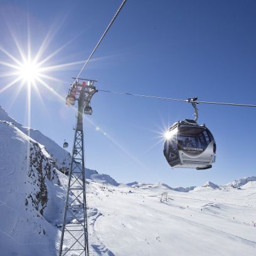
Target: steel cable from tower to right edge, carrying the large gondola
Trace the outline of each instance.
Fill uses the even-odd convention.
[[[129,92],[115,92],[115,91],[110,91],[110,90],[98,90],[98,91],[99,92],[115,93],[115,94],[131,95],[131,96],[136,96],[136,97],[151,98],[151,99],[176,100],[176,101],[180,101],[180,102],[189,102],[189,103],[191,103],[191,99],[182,100],[182,99],[173,99],[173,98],[159,97],[159,96],[152,96],[152,95],[134,94],[134,93],[129,93]],[[193,102],[195,102],[195,104],[215,104],[215,105],[232,105],[232,106],[240,106],[240,107],[256,107],[256,105],[252,105],[252,104],[236,104],[236,103],[226,103],[226,102],[206,102],[206,101],[199,101],[199,100],[195,100]]]

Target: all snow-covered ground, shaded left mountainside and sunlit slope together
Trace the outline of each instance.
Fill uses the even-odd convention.
[[[1,119],[0,255],[58,255],[68,181],[58,157],[68,153],[40,131],[41,144],[27,136],[0,108]],[[256,255],[256,177],[171,188],[86,171],[92,256]]]

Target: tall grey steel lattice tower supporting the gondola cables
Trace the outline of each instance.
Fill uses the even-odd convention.
[[[75,80],[67,97],[67,105],[75,105],[75,101],[78,101],[78,113],[65,211],[63,215],[59,256],[71,256],[73,252],[77,252],[78,255],[89,255],[85,160],[83,151],[83,112],[85,112],[85,114],[92,114],[90,99],[92,99],[93,94],[97,92],[96,88],[93,86],[94,82],[96,81],[82,78]],[[68,241],[68,245],[65,245],[65,247],[63,247],[64,240]]]

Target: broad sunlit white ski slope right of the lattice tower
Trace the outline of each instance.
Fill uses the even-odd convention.
[[[90,183],[88,204],[100,212],[92,228],[106,255],[255,255],[255,196],[256,186],[181,193]]]

